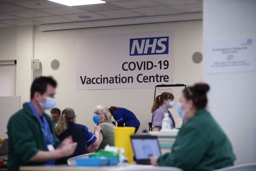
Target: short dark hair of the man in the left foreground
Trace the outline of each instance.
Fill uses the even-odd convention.
[[[46,92],[47,85],[51,85],[54,88],[57,87],[57,82],[52,77],[38,77],[36,78],[30,88],[30,100],[34,97],[34,93],[40,92],[44,94]]]

